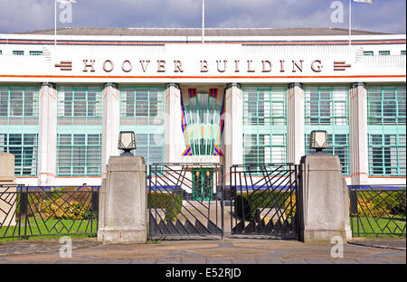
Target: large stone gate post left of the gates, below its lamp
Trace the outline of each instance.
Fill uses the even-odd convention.
[[[110,156],[100,191],[98,240],[147,240],[146,165],[142,156]]]

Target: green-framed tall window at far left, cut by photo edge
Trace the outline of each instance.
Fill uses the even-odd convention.
[[[37,86],[0,86],[0,152],[14,155],[16,176],[37,174],[38,93]]]

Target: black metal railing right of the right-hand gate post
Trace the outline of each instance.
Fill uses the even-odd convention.
[[[405,237],[405,185],[350,185],[354,237]]]

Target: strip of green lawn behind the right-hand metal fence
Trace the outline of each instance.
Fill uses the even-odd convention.
[[[404,237],[405,238],[405,218],[374,219],[374,218],[351,218],[351,228],[353,236],[357,237]],[[359,228],[359,235],[357,234]],[[397,234],[383,234],[397,233]]]

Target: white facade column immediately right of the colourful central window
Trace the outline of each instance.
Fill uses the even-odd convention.
[[[243,164],[243,93],[241,85],[226,85],[224,111],[224,183],[230,184],[230,167]]]

